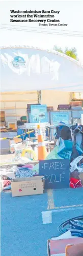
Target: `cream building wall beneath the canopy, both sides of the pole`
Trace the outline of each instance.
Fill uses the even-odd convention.
[[[69,104],[72,95],[69,92],[56,90],[42,90],[41,104],[53,106],[57,110],[58,104]],[[38,92],[11,92],[1,93],[1,111],[5,111],[6,125],[9,122],[17,122],[21,116],[26,115],[27,104],[38,103]]]

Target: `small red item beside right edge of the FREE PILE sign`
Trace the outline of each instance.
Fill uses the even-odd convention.
[[[70,178],[70,187],[71,188],[82,187],[81,180]]]

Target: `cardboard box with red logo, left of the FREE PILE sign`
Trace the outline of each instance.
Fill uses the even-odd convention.
[[[12,197],[43,194],[44,182],[43,176],[13,179],[11,181]]]

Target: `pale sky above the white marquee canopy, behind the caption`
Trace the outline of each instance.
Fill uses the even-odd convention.
[[[53,33],[55,30],[60,30],[66,33],[66,35],[45,34],[42,31],[49,31],[50,26],[47,28],[42,26],[40,28],[36,23],[10,23],[10,10],[59,10],[60,13],[55,15],[55,18],[59,18],[61,23],[68,24],[68,26],[56,26],[51,28]],[[52,50],[54,45],[61,47],[63,50],[65,47],[73,48],[77,50],[77,57],[80,63],[83,64],[83,36],[68,36],[67,31],[77,31],[76,33],[83,34],[83,2],[82,1],[1,1],[1,26],[12,28],[29,29],[32,27],[37,30],[41,30],[41,33],[26,32],[26,31],[12,31],[1,29],[0,46],[33,46],[42,49]],[[2,25],[6,24],[6,25]],[[21,27],[19,27],[21,26]],[[68,32],[70,33],[70,32]]]

